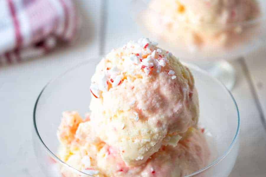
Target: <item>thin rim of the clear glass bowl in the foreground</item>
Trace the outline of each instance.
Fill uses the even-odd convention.
[[[97,59],[101,58],[101,57],[95,57]],[[40,137],[40,134],[39,134],[39,131],[38,131],[38,128],[37,128],[37,125],[36,125],[36,110],[37,110],[37,105],[38,105],[38,101],[40,99],[40,97],[42,96],[43,94],[43,91],[51,84],[53,83],[54,81],[56,81],[57,79],[60,79],[62,76],[64,76],[65,74],[71,72],[71,71],[74,71],[75,69],[85,65],[85,64],[88,64],[88,63],[91,63],[93,61],[93,59],[95,58],[91,58],[89,60],[85,60],[69,69],[67,69],[66,71],[64,71],[63,73],[61,73],[60,75],[58,75],[57,77],[51,79],[50,81],[48,81],[48,83],[43,87],[43,89],[41,90],[40,94],[38,95],[37,97],[37,100],[35,101],[35,105],[34,105],[34,109],[33,109],[33,127],[34,127],[34,132],[35,132],[35,135],[38,137],[38,140],[39,142],[41,143],[41,145],[45,148],[45,150],[48,152],[48,154],[50,156],[52,156],[52,158],[54,160],[56,160],[57,162],[60,162],[62,165],[64,166],[67,166],[69,168],[72,169],[72,171],[76,171],[77,173],[80,173],[82,175],[87,175],[87,176],[90,176],[80,170],[77,170],[76,168],[68,165],[67,163],[63,162],[60,158],[58,158],[47,146],[46,144],[43,142],[42,138]],[[233,103],[236,107],[236,111],[237,111],[237,129],[236,129],[236,133],[234,135],[234,138],[232,140],[232,142],[230,143],[228,149],[223,153],[223,155],[219,156],[218,158],[216,158],[216,160],[214,160],[212,163],[210,163],[209,165],[205,166],[204,168],[201,168],[200,170],[198,171],[195,171],[194,173],[188,175],[188,176],[185,176],[185,177],[192,177],[194,175],[197,175],[197,174],[200,174],[204,171],[206,171],[207,169],[215,166],[216,164],[218,164],[221,160],[223,160],[232,150],[233,146],[235,145],[236,143],[236,139],[239,135],[239,129],[240,129],[240,115],[239,115],[239,109],[238,109],[238,106],[237,106],[237,103],[236,103],[236,100],[235,98],[233,97],[232,93],[226,88],[226,86],[221,83],[220,81],[218,81],[216,78],[213,78],[212,76],[210,76],[206,71],[200,69],[199,67],[197,67],[196,65],[193,65],[193,64],[188,64],[188,63],[184,63],[182,62],[184,65],[188,66],[189,68],[192,68],[193,70],[196,70],[196,71],[199,71],[205,75],[207,75],[208,77],[211,77],[216,83],[220,84],[220,86],[222,86],[224,89],[226,89],[226,91],[229,93],[229,95],[231,96],[231,99],[233,100]],[[91,176],[91,177],[94,177],[94,176]]]

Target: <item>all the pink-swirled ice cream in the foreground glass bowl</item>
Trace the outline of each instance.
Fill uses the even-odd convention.
[[[207,165],[189,69],[147,38],[112,50],[91,78],[90,114],[65,112],[59,157],[95,176],[184,176]],[[62,173],[74,176],[62,167]]]

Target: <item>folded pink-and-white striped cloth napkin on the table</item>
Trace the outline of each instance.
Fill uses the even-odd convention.
[[[0,0],[0,65],[71,42],[79,18],[71,0]]]

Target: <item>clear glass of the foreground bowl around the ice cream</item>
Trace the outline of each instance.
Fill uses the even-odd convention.
[[[36,158],[46,176],[61,177],[60,166],[77,176],[89,176],[62,162],[57,156],[56,136],[61,112],[76,110],[81,115],[90,103],[90,78],[100,58],[85,61],[50,81],[41,91],[33,112],[33,142]],[[226,177],[239,150],[239,112],[230,91],[215,78],[193,65],[192,71],[200,100],[200,125],[212,149],[209,165],[189,176]]]

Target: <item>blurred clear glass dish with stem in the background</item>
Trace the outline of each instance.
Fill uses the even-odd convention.
[[[175,26],[179,28],[178,32],[164,24],[167,18],[156,9],[151,9],[148,5],[150,1],[152,0],[132,1],[132,17],[143,34],[157,41],[160,47],[168,49],[182,60],[194,63],[208,71],[213,77],[223,82],[228,89],[234,86],[235,70],[227,60],[237,59],[266,44],[265,0],[257,0],[260,15],[254,19],[223,25],[197,24],[195,26],[194,23],[189,22],[178,25],[175,23]],[[196,33],[186,33],[190,29]],[[207,43],[205,45],[192,44],[188,37],[184,37],[186,34],[188,36],[205,35],[206,31],[211,37],[210,40],[205,40],[208,42],[203,42]],[[216,45],[217,40],[213,38],[218,34],[226,34],[227,45]]]

